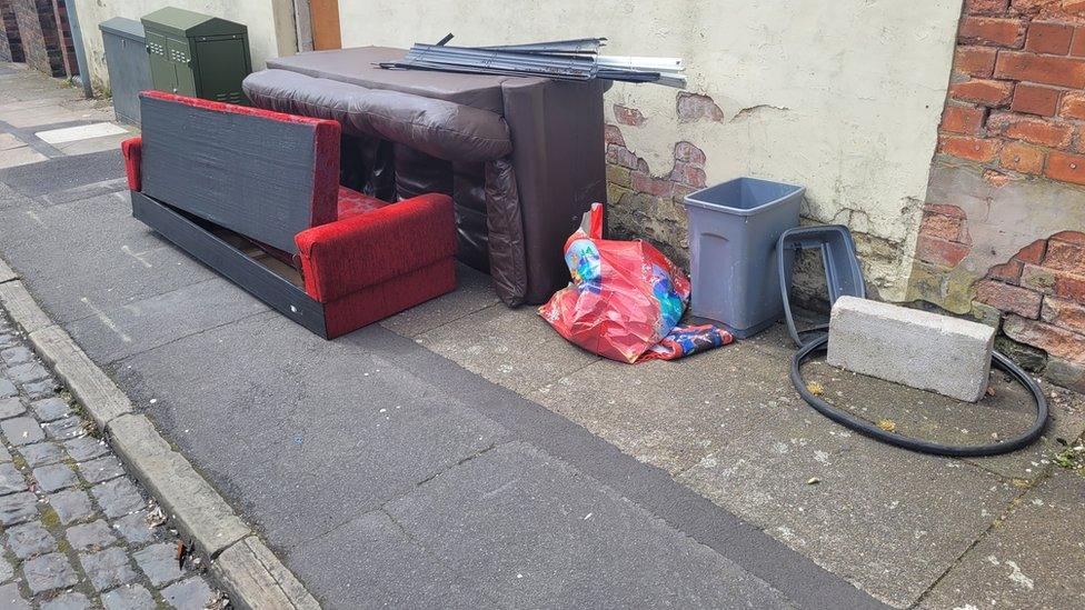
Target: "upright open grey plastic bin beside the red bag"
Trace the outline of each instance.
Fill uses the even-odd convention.
[[[745,338],[783,316],[776,241],[798,226],[805,192],[794,184],[737,178],[686,196],[695,317]]]

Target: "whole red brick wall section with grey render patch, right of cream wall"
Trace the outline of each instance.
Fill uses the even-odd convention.
[[[1085,0],[966,0],[910,299],[1085,391]]]

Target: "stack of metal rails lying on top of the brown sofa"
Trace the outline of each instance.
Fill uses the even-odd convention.
[[[686,87],[679,58],[599,54],[605,38],[580,38],[497,47],[449,47],[416,43],[404,59],[379,63],[389,70],[435,70],[477,74],[546,77],[559,80],[606,79]]]

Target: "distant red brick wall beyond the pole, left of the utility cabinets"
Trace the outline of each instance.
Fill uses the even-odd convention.
[[[63,2],[8,0],[19,24],[27,63],[53,77],[78,73]],[[59,23],[59,26],[58,26]]]

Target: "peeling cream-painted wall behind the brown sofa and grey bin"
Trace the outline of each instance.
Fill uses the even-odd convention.
[[[757,176],[808,187],[807,214],[900,243],[868,279],[902,299],[937,138],[962,0],[339,0],[345,47],[464,46],[605,36],[613,54],[679,56],[723,122],[680,123],[676,90],[616,86],[639,109],[626,143],[657,176],[676,141],[709,183]],[[611,104],[608,116],[614,122]],[[745,110],[745,111],[744,111]]]

